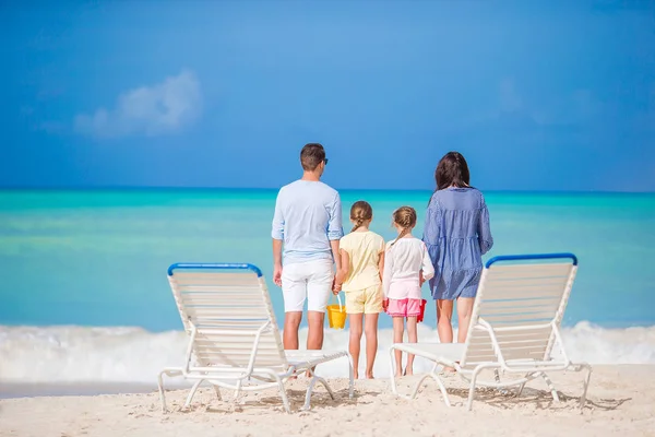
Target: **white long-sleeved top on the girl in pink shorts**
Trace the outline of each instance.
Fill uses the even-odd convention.
[[[403,237],[393,246],[391,243],[386,244],[384,253],[384,297],[420,299],[420,271],[426,281],[434,275],[426,244],[414,236]]]

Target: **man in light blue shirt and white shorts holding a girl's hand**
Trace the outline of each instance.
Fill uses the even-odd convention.
[[[273,217],[273,282],[284,295],[284,349],[298,349],[298,328],[307,299],[308,350],[323,347],[325,307],[341,268],[344,235],[338,192],[320,181],[327,158],[321,144],[300,152],[302,178],[282,187]],[[284,241],[284,268],[283,268]]]

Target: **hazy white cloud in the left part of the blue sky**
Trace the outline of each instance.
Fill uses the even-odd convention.
[[[80,114],[74,125],[79,133],[97,138],[155,137],[179,131],[201,110],[200,82],[193,72],[184,70],[155,85],[120,94],[114,109]]]

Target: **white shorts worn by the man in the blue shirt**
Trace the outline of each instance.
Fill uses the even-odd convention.
[[[300,311],[307,299],[308,311],[325,312],[332,293],[332,260],[294,262],[282,269],[285,312]]]

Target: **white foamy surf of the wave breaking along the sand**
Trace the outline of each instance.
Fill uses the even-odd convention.
[[[302,329],[301,344],[306,338],[307,330]],[[419,324],[418,339],[438,341],[438,335],[430,327]],[[391,340],[392,330],[380,330],[377,377],[390,375]],[[655,364],[655,326],[605,329],[583,321],[564,329],[564,342],[574,361]],[[347,349],[347,330],[325,329],[323,349]],[[183,364],[186,345],[187,336],[180,331],[151,333],[141,328],[0,326],[0,391],[2,383],[154,386],[162,368]],[[365,356],[360,368],[364,361]],[[415,371],[428,369],[428,363],[417,359]],[[325,377],[346,377],[346,362],[321,365],[319,371]]]

